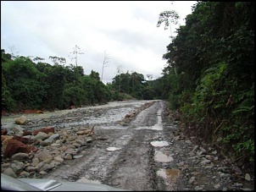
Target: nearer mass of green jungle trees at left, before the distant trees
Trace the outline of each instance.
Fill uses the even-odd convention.
[[[111,98],[111,92],[93,70],[85,75],[80,66],[65,67],[57,60],[54,65],[34,63],[31,58],[12,57],[4,50],[1,64],[2,108],[8,112],[81,107]]]

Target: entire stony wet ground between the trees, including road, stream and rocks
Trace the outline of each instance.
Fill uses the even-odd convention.
[[[14,178],[98,182],[131,190],[254,189],[254,175],[229,165],[211,146],[186,138],[164,101],[24,116],[25,125],[14,123],[19,115],[2,121],[2,173]],[[20,148],[10,147],[14,139]]]

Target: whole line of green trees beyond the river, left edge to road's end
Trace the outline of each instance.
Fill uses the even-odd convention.
[[[153,99],[153,88],[143,74],[120,73],[112,83],[104,85],[96,71],[86,75],[81,66],[64,65],[65,58],[50,56],[51,65],[42,63],[42,58],[32,60],[1,51],[2,110],[8,112],[66,109],[129,98]]]

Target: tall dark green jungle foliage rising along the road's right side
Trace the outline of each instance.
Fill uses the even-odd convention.
[[[186,133],[254,165],[254,2],[196,3],[163,58],[163,96]]]

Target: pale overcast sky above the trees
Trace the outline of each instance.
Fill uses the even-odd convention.
[[[118,69],[161,77],[163,54],[170,33],[185,25],[195,1],[1,1],[1,49],[25,57],[75,59],[70,52],[80,47],[77,64],[85,74],[102,77],[104,52],[108,63],[103,82],[111,82]],[[159,14],[175,10],[179,25],[157,27]]]

